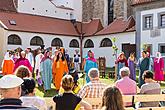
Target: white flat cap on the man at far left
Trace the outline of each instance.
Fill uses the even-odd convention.
[[[23,83],[23,80],[16,75],[5,75],[0,79],[0,88],[9,89],[18,87]]]

